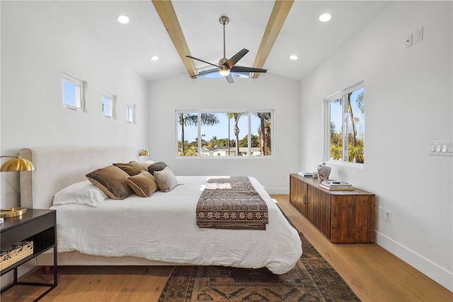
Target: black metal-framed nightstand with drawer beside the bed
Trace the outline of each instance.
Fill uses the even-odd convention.
[[[3,293],[6,289],[16,284],[33,285],[33,286],[50,286],[44,294],[35,299],[40,300],[49,291],[57,287],[57,214],[55,210],[46,209],[27,209],[25,214],[21,216],[5,218],[4,223],[0,224],[1,230],[1,250],[8,250],[12,245],[15,245],[23,240],[33,241],[33,254],[22,260],[14,263],[10,267],[1,270],[1,275],[14,270],[13,283],[2,289]],[[54,283],[42,284],[33,282],[17,281],[17,268],[23,263],[34,257],[42,254],[46,250],[54,249]]]

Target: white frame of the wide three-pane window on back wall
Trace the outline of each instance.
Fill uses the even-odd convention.
[[[241,112],[244,112],[247,114],[247,125],[248,125],[248,129],[247,129],[247,134],[244,134],[247,135],[247,139],[248,139],[248,142],[247,142],[247,148],[248,148],[248,151],[247,151],[247,154],[246,156],[203,156],[202,154],[202,125],[201,125],[201,114],[202,113],[217,113],[217,114],[226,114],[226,113],[241,113]],[[252,115],[254,112],[270,112],[270,155],[268,156],[253,156],[253,152],[251,151],[251,149],[253,148],[251,146],[251,134],[253,134],[252,132],[252,129],[251,129],[251,119],[252,119]],[[178,124],[178,115],[180,113],[193,113],[193,114],[197,114],[197,155],[196,156],[180,156],[178,153],[179,153],[179,150],[178,150],[178,143],[179,143],[179,140],[180,140],[180,137],[179,137],[179,134],[178,134],[178,127],[179,127],[179,124]],[[273,144],[273,141],[274,141],[274,119],[275,119],[275,110],[273,109],[253,109],[253,110],[248,110],[248,109],[228,109],[228,110],[175,110],[175,158],[229,158],[229,159],[232,159],[232,158],[275,158],[275,155],[274,155],[274,152],[275,152],[275,146]]]

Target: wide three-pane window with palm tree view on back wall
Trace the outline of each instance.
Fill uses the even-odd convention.
[[[177,111],[178,156],[272,156],[273,110]]]

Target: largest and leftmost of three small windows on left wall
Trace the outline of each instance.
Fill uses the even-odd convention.
[[[63,74],[63,106],[72,110],[84,111],[86,82]]]

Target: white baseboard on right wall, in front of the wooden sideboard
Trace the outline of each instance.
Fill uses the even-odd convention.
[[[452,272],[448,272],[446,269],[436,265],[425,257],[418,255],[413,250],[406,248],[382,233],[376,232],[376,238],[374,241],[377,245],[382,246],[382,248],[388,250],[396,257],[408,263],[408,265],[415,267],[415,269],[418,269],[420,272],[430,277],[438,284],[444,286],[449,291],[453,291]]]

